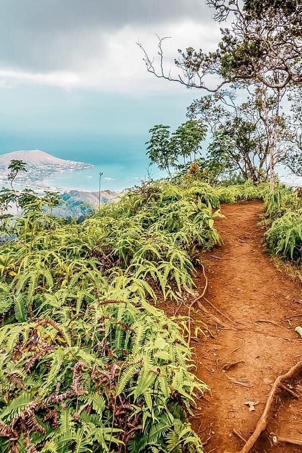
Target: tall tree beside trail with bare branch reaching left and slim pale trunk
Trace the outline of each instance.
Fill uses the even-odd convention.
[[[233,86],[256,85],[262,93],[263,121],[266,124],[270,147],[270,182],[274,187],[275,130],[279,121],[279,108],[289,85],[302,82],[302,3],[299,0],[208,0],[215,9],[214,19],[232,22],[221,29],[222,38],[214,52],[201,49],[181,49],[175,64],[181,73],[176,76],[164,67],[163,42],[159,38],[160,67],[156,67],[143,46],[147,70],[159,78],[175,81],[189,88],[217,92],[225,84]],[[207,76],[216,74],[220,81],[210,88]],[[273,90],[277,100],[274,121],[267,116],[266,100]]]

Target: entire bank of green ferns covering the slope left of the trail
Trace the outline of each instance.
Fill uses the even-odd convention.
[[[150,305],[192,284],[192,258],[219,238],[214,190],[146,183],[81,224],[3,219],[0,446],[19,452],[202,451],[186,422],[191,352]]]

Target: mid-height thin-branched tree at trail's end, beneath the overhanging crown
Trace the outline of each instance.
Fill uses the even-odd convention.
[[[188,108],[188,115],[207,121],[211,132],[204,164],[212,167],[218,163],[220,175],[224,177],[241,175],[255,184],[266,181],[270,170],[270,127],[274,128],[274,165],[289,155],[291,134],[285,115],[279,112],[278,122],[274,123],[277,104],[278,100],[273,97],[267,99],[264,111],[259,90],[250,92],[247,101],[241,104],[234,92],[216,93],[195,100]],[[216,170],[219,167],[216,166]]]

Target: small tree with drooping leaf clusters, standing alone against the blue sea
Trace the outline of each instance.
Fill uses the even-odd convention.
[[[160,170],[171,176],[171,168],[186,169],[200,154],[200,144],[206,136],[207,127],[200,119],[189,119],[172,134],[170,126],[157,124],[149,130],[151,138],[145,144],[147,156]],[[183,164],[180,164],[182,159]]]

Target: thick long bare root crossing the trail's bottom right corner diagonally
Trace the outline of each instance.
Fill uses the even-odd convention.
[[[274,384],[272,385],[272,388],[271,388],[271,391],[269,393],[269,396],[267,398],[265,409],[264,409],[264,411],[263,411],[263,413],[262,413],[262,415],[261,415],[261,417],[260,417],[260,419],[259,419],[259,421],[258,421],[258,423],[256,425],[256,429],[253,432],[253,434],[251,435],[251,437],[248,439],[248,441],[246,442],[244,447],[240,450],[240,453],[248,453],[251,450],[251,448],[253,447],[253,445],[255,444],[255,442],[258,440],[258,437],[260,436],[262,431],[264,431],[266,429],[266,427],[267,427],[267,419],[268,419],[271,407],[273,405],[274,397],[275,397],[275,394],[276,394],[277,390],[280,387],[282,388],[282,385],[283,385],[284,381],[286,381],[287,379],[292,378],[295,374],[297,374],[301,370],[302,370],[302,361],[300,361],[300,362],[296,363],[295,365],[293,365],[287,371],[287,373],[281,374],[275,380]],[[281,438],[279,438],[279,440],[280,439]]]

